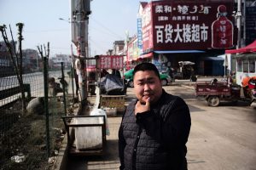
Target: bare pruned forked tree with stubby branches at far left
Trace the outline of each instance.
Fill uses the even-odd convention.
[[[6,47],[8,48],[9,51],[9,57],[14,65],[15,69],[15,74],[17,76],[18,82],[20,84],[20,92],[21,92],[21,100],[22,100],[22,112],[26,113],[26,96],[25,96],[25,90],[24,90],[24,85],[23,85],[23,56],[22,56],[22,30],[23,30],[23,23],[17,23],[16,26],[18,27],[18,43],[19,43],[19,48],[18,48],[18,53],[15,50],[15,41],[13,37],[13,33],[11,30],[11,26],[9,26],[12,42],[9,42],[9,38],[6,33],[7,27],[5,25],[0,26],[0,31],[2,33],[3,41],[6,44]]]

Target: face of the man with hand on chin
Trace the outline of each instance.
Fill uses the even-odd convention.
[[[162,85],[154,71],[137,71],[133,82],[136,97],[142,104],[145,104],[148,98],[150,98],[150,103],[155,103],[160,99]]]

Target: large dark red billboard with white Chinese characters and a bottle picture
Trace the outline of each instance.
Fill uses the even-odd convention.
[[[143,52],[233,48],[233,7],[232,0],[148,3],[143,9]]]

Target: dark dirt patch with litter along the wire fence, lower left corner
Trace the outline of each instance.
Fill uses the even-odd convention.
[[[55,159],[49,162],[45,116],[22,115],[20,102],[0,114],[0,169],[27,170],[52,169]],[[50,156],[57,156],[66,133],[61,120],[63,104],[49,104]],[[19,160],[22,160],[17,162]]]

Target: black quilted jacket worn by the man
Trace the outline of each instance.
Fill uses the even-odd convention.
[[[184,103],[183,99],[166,94],[163,91],[159,102],[151,105],[151,111],[146,114],[140,114],[143,117],[134,115],[136,102],[131,102],[128,106],[119,130],[119,138],[122,138],[119,140],[124,141],[123,144],[119,142],[119,154],[123,154],[121,164],[123,163],[124,169],[187,169],[185,158],[187,148],[185,144],[189,136],[191,122],[188,106]],[[176,110],[177,107],[182,111]],[[180,116],[182,117],[179,118]],[[178,126],[173,125],[175,131],[179,135],[183,135],[180,138],[178,137],[177,140],[174,139],[177,133],[170,136],[173,131],[172,120],[177,121],[177,123],[181,121],[180,123],[183,123],[183,126],[185,126],[178,129]],[[162,126],[163,124],[165,125]],[[179,133],[179,131],[184,132]],[[122,148],[124,149],[123,152]]]

